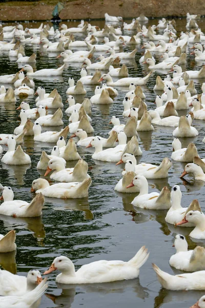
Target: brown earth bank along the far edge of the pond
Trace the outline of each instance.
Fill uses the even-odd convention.
[[[49,21],[57,1],[44,2],[10,1],[0,4],[0,20],[2,22],[14,21]],[[73,20],[104,20],[106,12],[109,15],[122,16],[125,19],[138,17],[144,13],[148,17],[186,17],[190,14],[205,15],[204,0],[74,0],[63,2],[65,8],[60,12],[62,21]],[[15,14],[14,14],[15,12]],[[93,17],[95,16],[95,18]]]

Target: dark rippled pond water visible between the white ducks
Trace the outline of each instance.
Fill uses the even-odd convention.
[[[177,31],[186,30],[186,20],[176,20]],[[92,21],[92,24],[103,27],[104,22]],[[151,20],[149,25],[157,24],[156,20]],[[24,26],[36,27],[38,24],[24,24]],[[69,26],[77,25],[70,23]],[[205,30],[204,19],[199,22],[201,30]],[[80,36],[76,36],[80,37]],[[80,39],[84,37],[81,36]],[[134,49],[134,46],[132,47]],[[37,54],[36,68],[55,68],[62,64],[59,59],[49,57],[39,46],[25,46],[26,55],[35,52]],[[126,47],[125,50],[128,50]],[[195,64],[193,56],[187,50],[187,69],[199,69]],[[138,64],[141,56],[140,46],[137,46],[135,61],[126,62],[130,76],[145,76],[147,68]],[[95,55],[95,59],[97,54]],[[159,58],[159,55],[156,55]],[[186,69],[186,67],[184,68]],[[15,61],[9,59],[8,52],[0,53],[0,75],[15,73],[18,70]],[[68,88],[68,79],[73,76],[75,81],[79,79],[81,64],[69,64],[63,76],[56,79],[35,79],[35,88],[45,86],[49,92],[57,88],[65,103]],[[164,76],[166,72],[160,73]],[[148,109],[154,108],[156,73],[153,73],[147,87],[146,103]],[[201,83],[198,80],[196,88],[201,92]],[[200,82],[202,82],[200,80]],[[86,87],[87,96],[93,95],[94,87]],[[117,88],[118,97],[112,106],[92,107],[92,126],[95,134],[103,137],[107,136],[111,126],[108,125],[112,115],[118,115],[122,123],[122,100],[128,88]],[[32,107],[35,106],[34,98],[27,101]],[[83,98],[77,98],[81,103]],[[0,105],[1,121],[0,132],[12,133],[19,123],[16,104]],[[65,108],[67,104],[65,104]],[[185,112],[180,112],[186,114]],[[68,125],[68,117],[64,114],[64,123]],[[194,120],[193,125],[198,129],[199,136],[196,138],[181,139],[182,146],[186,147],[190,142],[197,146],[199,155],[204,157],[204,137],[203,121]],[[56,130],[55,127],[53,127]],[[57,128],[59,129],[59,127]],[[172,153],[172,128],[155,127],[151,133],[139,133],[139,143],[143,151],[139,162],[150,162],[159,164],[164,157],[171,156]],[[1,167],[1,183],[11,186],[15,199],[30,201],[33,194],[30,192],[31,183],[40,175],[36,169],[42,150],[51,151],[53,144],[34,142],[32,138],[25,138],[23,148],[29,153],[32,160],[29,166],[8,166]],[[119,194],[114,191],[117,181],[121,178],[121,171],[124,166],[115,166],[112,163],[93,161],[91,158],[93,149],[78,148],[78,152],[84,158],[89,167],[89,174],[92,178],[92,185],[89,189],[88,199],[58,200],[46,198],[42,217],[35,219],[19,219],[12,217],[0,217],[0,233],[5,234],[11,229],[16,230],[17,252],[0,256],[2,267],[20,275],[26,275],[31,268],[37,268],[43,273],[52,263],[53,259],[59,255],[68,256],[75,264],[76,268],[81,265],[101,260],[129,260],[142,245],[146,245],[150,251],[150,257],[146,264],[140,269],[138,279],[130,281],[120,281],[106,284],[76,285],[67,286],[63,290],[57,288],[55,284],[56,273],[49,276],[49,288],[47,296],[43,296],[41,308],[51,307],[72,307],[81,305],[84,307],[189,307],[204,294],[204,292],[171,292],[163,290],[156,279],[151,263],[158,264],[163,270],[176,274],[169,266],[169,258],[175,253],[172,247],[174,237],[177,233],[186,235],[189,247],[194,248],[198,243],[193,242],[188,234],[190,229],[174,228],[165,222],[166,211],[135,210],[136,215],[132,217],[129,210],[134,210],[131,201],[135,195]],[[68,163],[67,167],[74,166],[76,162]],[[173,166],[169,172],[169,178],[163,180],[149,180],[150,191],[159,191],[167,185],[170,189],[178,184],[181,187],[183,199],[182,205],[188,206],[193,199],[199,199],[204,210],[204,184],[195,182],[192,177],[187,177],[189,181],[186,185],[180,180],[179,175],[185,164],[173,161]],[[44,172],[42,172],[44,173]],[[43,177],[43,174],[41,175]],[[204,245],[204,243],[200,243]]]

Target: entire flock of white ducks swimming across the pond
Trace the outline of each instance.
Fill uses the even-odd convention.
[[[27,98],[34,95],[35,83],[33,79],[41,79],[45,76],[60,76],[66,69],[66,64],[83,64],[79,80],[75,81],[70,76],[68,94],[68,108],[66,115],[70,124],[64,126],[63,102],[60,93],[54,89],[46,93],[43,86],[36,89],[34,106],[27,102],[20,102],[17,110],[20,110],[20,125],[14,131],[1,133],[0,154],[1,161],[8,165],[31,164],[30,156],[20,144],[24,136],[32,136],[35,142],[54,143],[51,154],[42,152],[37,168],[45,171],[44,177],[58,182],[50,185],[44,177],[33,180],[31,191],[36,196],[31,202],[15,200],[11,187],[1,186],[3,203],[0,206],[0,214],[13,217],[37,217],[42,215],[44,196],[53,198],[87,198],[88,189],[92,183],[88,174],[88,163],[80,158],[77,147],[94,147],[92,158],[98,161],[115,162],[116,165],[125,163],[122,178],[116,183],[115,190],[129,194],[138,193],[132,201],[135,208],[168,210],[165,221],[181,227],[193,227],[190,237],[205,239],[205,216],[201,211],[197,200],[193,200],[189,207],[181,206],[181,191],[175,185],[170,192],[168,187],[163,187],[160,192],[149,193],[147,179],[165,179],[169,176],[172,162],[169,158],[163,158],[159,166],[150,163],[137,164],[136,156],[143,156],[138,142],[138,131],[152,131],[156,126],[173,127],[173,136],[170,140],[173,153],[170,158],[174,161],[186,162],[181,178],[192,174],[195,180],[205,181],[205,162],[198,156],[194,143],[187,148],[182,148],[178,138],[196,137],[199,132],[192,126],[195,119],[205,120],[205,84],[202,84],[202,93],[197,93],[193,79],[205,78],[205,55],[203,42],[205,35],[198,28],[198,15],[187,14],[187,29],[190,32],[176,34],[175,21],[166,21],[162,18],[156,26],[146,27],[140,25],[148,22],[148,18],[140,15],[134,18],[132,23],[123,23],[122,17],[105,14],[106,25],[100,30],[91,26],[88,22],[81,21],[77,28],[68,28],[61,25],[55,30],[49,25],[40,25],[39,28],[26,28],[22,25],[1,26],[0,51],[7,51],[9,57],[13,57],[20,70],[14,74],[0,76],[0,103],[12,104],[16,97]],[[115,25],[117,24],[117,27]],[[161,34],[157,34],[157,29]],[[127,34],[122,35],[122,30]],[[129,32],[132,31],[132,32]],[[85,40],[75,41],[75,34],[87,35]],[[15,38],[18,37],[18,41]],[[52,39],[52,41],[50,41]],[[53,42],[53,40],[55,40]],[[101,43],[101,44],[100,44]],[[157,43],[157,44],[156,44]],[[26,44],[39,45],[47,53],[55,53],[57,59],[63,58],[64,64],[58,68],[46,68],[33,70],[36,54],[26,56],[24,46]],[[137,48],[124,52],[124,46],[142,44],[145,54],[140,58],[139,65],[151,70],[145,76],[129,76],[126,64],[120,66],[120,62],[135,59]],[[80,50],[81,47],[88,50]],[[70,48],[70,49],[69,49]],[[186,65],[186,52],[193,49],[193,60],[200,66],[199,70],[182,70]],[[73,52],[71,49],[77,49]],[[96,52],[99,61],[93,61]],[[160,54],[162,61],[156,63],[155,56]],[[107,56],[108,55],[108,56]],[[93,74],[89,75],[87,70]],[[149,82],[151,74],[156,71],[166,70],[173,72],[173,76],[165,75],[162,80],[156,76],[154,91],[161,91],[155,95],[156,108],[148,110],[145,103],[146,93],[141,86]],[[114,79],[114,80],[113,80]],[[100,87],[100,83],[104,84]],[[10,85],[10,87],[8,87]],[[95,86],[93,96],[85,98],[79,104],[75,103],[75,95],[86,95],[89,86]],[[176,85],[178,85],[176,87]],[[6,86],[6,87],[5,87]],[[118,90],[115,89],[118,87]],[[126,88],[125,88],[126,87]],[[128,91],[129,87],[129,91]],[[15,90],[13,90],[15,88]],[[111,117],[112,130],[108,131],[108,138],[101,136],[88,136],[94,134],[91,125],[92,105],[112,105],[118,91],[127,91],[121,102],[121,113],[125,117],[125,124],[120,124],[116,115]],[[157,93],[158,94],[158,93]],[[192,107],[192,109],[189,109]],[[54,109],[54,110],[53,110]],[[178,116],[178,111],[184,111],[184,115]],[[188,114],[187,114],[188,113]],[[160,117],[163,117],[162,119]],[[58,131],[47,130],[44,127],[60,126]],[[44,131],[42,132],[42,129]],[[68,134],[70,139],[67,140]],[[77,141],[77,147],[75,141]],[[131,138],[129,141],[128,138]],[[203,142],[205,138],[203,139]],[[16,147],[17,145],[17,147]],[[7,147],[6,147],[7,146]],[[67,161],[78,160],[74,168],[66,168]],[[116,167],[117,168],[117,167]],[[183,235],[176,235],[174,246],[176,254],[171,256],[170,265],[181,271],[193,272],[188,274],[170,275],[162,272],[153,264],[157,278],[161,285],[168,290],[204,290],[204,248],[197,246],[188,250],[188,243]],[[15,232],[0,235],[0,252],[15,251]],[[138,253],[128,262],[100,260],[83,265],[75,271],[72,261],[60,256],[53,260],[50,268],[44,274],[59,270],[56,282],[64,284],[101,283],[117,280],[134,279],[139,275],[139,268],[149,257],[148,249],[141,247]],[[186,278],[186,279],[185,279]],[[38,286],[36,286],[36,284]],[[38,300],[45,292],[48,284],[42,279],[40,273],[31,270],[27,278],[13,275],[7,271],[0,272],[0,299],[1,307],[38,306]],[[204,296],[197,302],[196,307],[203,308]]]

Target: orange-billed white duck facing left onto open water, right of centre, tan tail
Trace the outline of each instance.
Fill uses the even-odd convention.
[[[170,191],[167,187],[163,187],[160,194],[158,192],[148,194],[148,181],[140,175],[135,176],[127,188],[133,186],[139,188],[139,195],[131,202],[134,206],[146,209],[169,209],[171,207]]]

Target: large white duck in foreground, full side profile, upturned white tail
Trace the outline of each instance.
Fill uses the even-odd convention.
[[[44,274],[49,274],[58,269],[61,273],[57,275],[56,282],[64,284],[102,283],[128,280],[139,276],[139,268],[145,264],[148,257],[148,249],[143,246],[128,262],[119,260],[99,260],[83,265],[75,272],[73,262],[67,257],[60,256],[53,260],[52,265]]]

